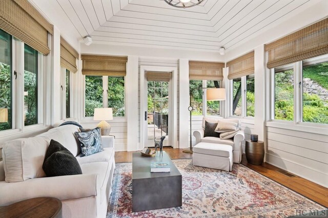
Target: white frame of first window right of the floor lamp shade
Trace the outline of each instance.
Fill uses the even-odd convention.
[[[254,81],[255,81],[255,73],[252,73],[254,74]],[[252,74],[249,74],[249,75],[252,75]],[[245,119],[245,120],[250,120],[250,121],[253,121],[254,118],[255,118],[255,114],[254,114],[254,117],[252,116],[247,116],[247,76],[242,76],[242,77],[238,77],[238,78],[241,78],[241,115],[240,116],[237,116],[237,115],[234,115],[233,114],[233,79],[229,79],[228,80],[228,83],[229,83],[229,86],[230,86],[230,89],[229,89],[229,117],[233,117],[233,118],[239,118],[239,119]],[[254,90],[255,90],[255,83],[254,83]],[[255,93],[255,91],[254,91]],[[254,107],[255,107],[255,104],[254,104]]]

